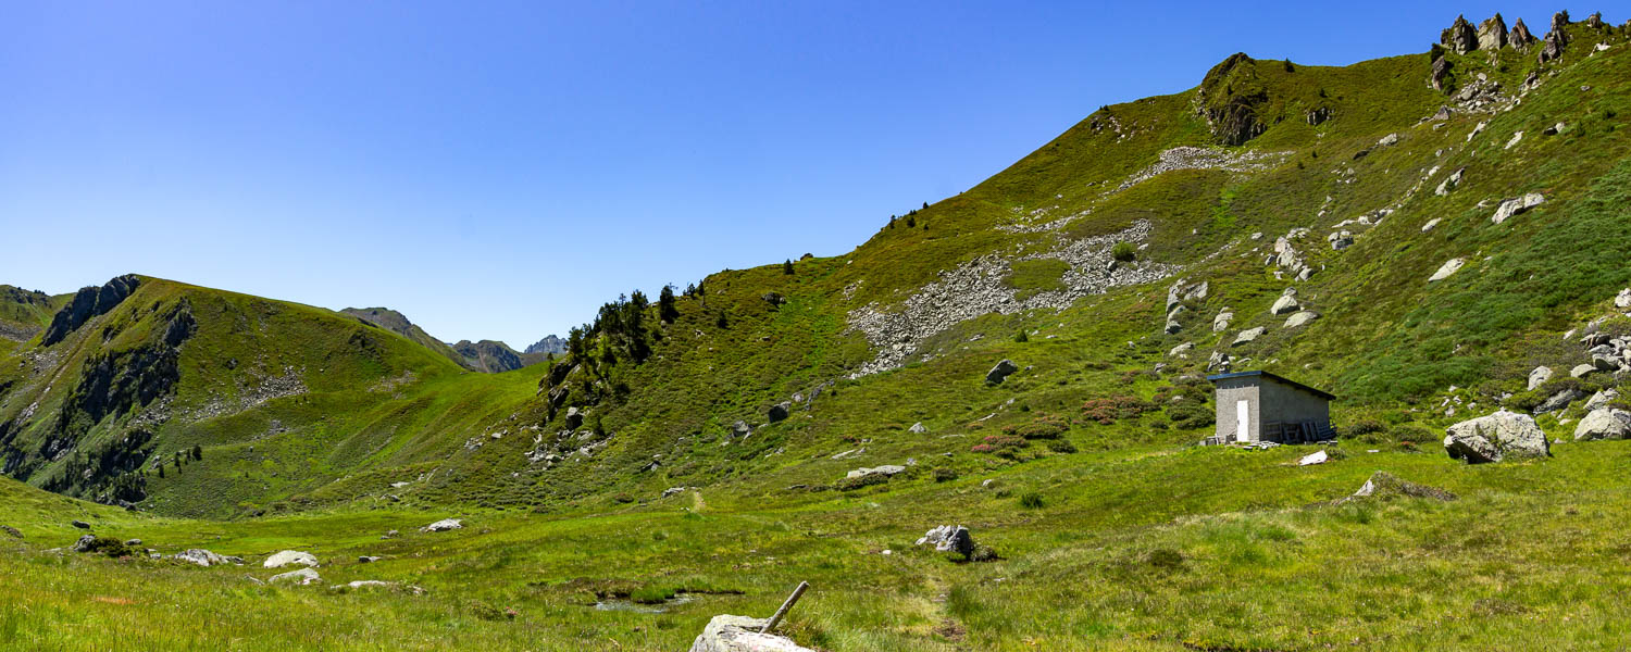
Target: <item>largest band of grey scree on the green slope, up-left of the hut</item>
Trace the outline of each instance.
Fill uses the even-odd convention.
[[[1083,297],[1101,295],[1116,287],[1166,279],[1178,267],[1158,262],[1138,262],[1109,269],[1112,261],[1111,248],[1116,243],[1145,241],[1150,238],[1151,230],[1153,225],[1148,220],[1138,220],[1127,230],[1065,241],[1047,253],[1018,258],[1001,254],[980,256],[949,272],[941,272],[939,280],[922,287],[899,310],[886,311],[876,302],[851,310],[848,315],[850,329],[860,331],[868,342],[877,347],[876,357],[863,363],[851,377],[858,378],[900,367],[908,357],[917,354],[925,339],[983,315],[1065,310]],[[1008,287],[1006,277],[1013,262],[1031,259],[1067,262],[1070,269],[1060,277],[1063,289],[1037,292],[1023,300],[1018,298],[1014,289]]]

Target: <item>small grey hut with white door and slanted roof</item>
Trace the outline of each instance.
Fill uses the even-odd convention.
[[[1331,393],[1269,372],[1207,377],[1217,386],[1218,430],[1204,443],[1303,443],[1334,438]]]

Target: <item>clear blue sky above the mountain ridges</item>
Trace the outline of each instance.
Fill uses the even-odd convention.
[[[850,251],[1236,51],[1350,64],[1556,8],[0,0],[0,282],[140,272],[519,349]]]

